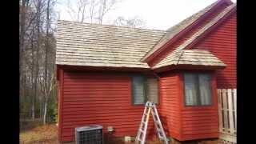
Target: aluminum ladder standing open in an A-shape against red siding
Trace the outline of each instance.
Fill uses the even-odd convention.
[[[158,133],[158,138],[162,140],[165,144],[168,144],[168,139],[166,138],[166,134],[162,128],[162,123],[158,116],[158,110],[154,104],[154,102],[146,102],[144,113],[142,115],[142,122],[138,128],[138,133],[135,138],[136,144],[144,144],[146,140],[146,129],[150,118],[150,112],[154,119],[154,126]]]

